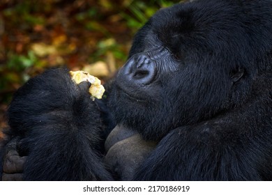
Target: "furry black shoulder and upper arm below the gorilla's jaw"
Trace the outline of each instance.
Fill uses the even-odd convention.
[[[247,115],[231,114],[169,132],[133,180],[271,180],[271,130],[237,130]]]

